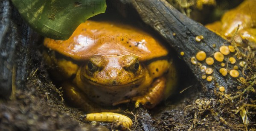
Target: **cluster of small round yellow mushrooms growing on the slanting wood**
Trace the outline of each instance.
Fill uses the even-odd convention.
[[[198,36],[196,38],[196,41],[197,39]],[[203,50],[200,50],[198,51],[198,53],[196,53],[195,56],[191,58],[191,63],[200,67],[200,70],[202,72],[201,78],[209,82],[214,80],[214,70],[211,68],[211,66],[215,63],[215,61],[217,61],[217,64],[220,64],[220,66],[222,67],[218,70],[223,77],[230,76],[232,78],[237,78],[239,77],[239,66],[244,67],[246,63],[244,61],[240,61],[238,64],[237,59],[239,59],[239,56],[236,54],[235,55],[237,56],[237,59],[235,57],[230,57],[230,53],[234,53],[235,51],[235,47],[233,47],[232,45],[222,45],[221,47],[219,47],[219,51],[211,54],[210,56],[207,56],[207,54]],[[180,55],[183,56],[183,54]],[[226,63],[224,63],[225,58],[227,58]],[[232,69],[228,69],[229,64],[234,65]],[[220,92],[225,91],[224,86],[218,86],[218,88]]]

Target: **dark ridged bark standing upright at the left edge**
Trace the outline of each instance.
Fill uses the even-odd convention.
[[[24,23],[9,0],[0,3],[0,97],[9,98],[12,86],[25,86],[30,50],[38,35]]]

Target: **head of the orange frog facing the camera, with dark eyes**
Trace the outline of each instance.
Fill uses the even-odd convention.
[[[93,55],[81,68],[81,80],[96,86],[133,86],[144,78],[145,69],[134,55]]]

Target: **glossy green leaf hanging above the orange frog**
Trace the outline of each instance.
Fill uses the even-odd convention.
[[[78,25],[106,10],[105,0],[12,0],[21,16],[41,35],[68,39]]]

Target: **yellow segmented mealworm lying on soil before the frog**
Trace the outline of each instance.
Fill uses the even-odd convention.
[[[87,121],[98,121],[98,122],[117,122],[122,124],[125,128],[131,128],[132,120],[125,115],[112,113],[112,112],[101,112],[87,114],[85,120]]]

